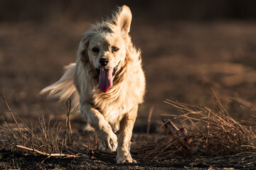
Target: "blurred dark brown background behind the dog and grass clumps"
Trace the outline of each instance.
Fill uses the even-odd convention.
[[[210,87],[235,120],[250,118],[256,109],[256,2],[235,0],[2,0],[0,92],[12,111],[25,120],[64,119],[65,103],[47,100],[39,91],[75,62],[90,23],[124,4],[133,14],[130,35],[142,50],[147,83],[137,132],[146,132],[152,107],[152,132],[161,114],[176,113],[165,98],[216,108]],[[0,108],[8,118],[4,102]],[[73,113],[73,125],[79,123],[79,113]]]

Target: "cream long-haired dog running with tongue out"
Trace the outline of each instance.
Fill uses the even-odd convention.
[[[146,86],[141,52],[129,36],[131,22],[132,12],[122,6],[93,25],[80,42],[76,62],[41,91],[62,101],[71,98],[87,129],[95,131],[99,149],[117,151],[117,164],[136,162],[130,140]]]

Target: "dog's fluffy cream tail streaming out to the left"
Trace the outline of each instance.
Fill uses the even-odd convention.
[[[64,67],[65,74],[54,84],[47,86],[40,94],[48,94],[49,97],[58,98],[60,101],[72,101],[72,111],[79,109],[79,94],[73,83],[75,63]]]

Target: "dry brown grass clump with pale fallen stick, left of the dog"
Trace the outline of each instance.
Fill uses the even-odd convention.
[[[50,119],[46,123],[45,118],[42,116],[38,117],[38,123],[33,125],[31,123],[28,126],[21,118],[14,116],[4,96],[4,99],[9,112],[14,119],[16,128],[9,127],[9,123],[6,122],[4,116],[1,118],[4,120],[5,127],[0,127],[6,141],[4,142],[7,147],[14,149],[22,149],[22,152],[34,152],[37,154],[46,155],[48,157],[78,157],[82,154],[78,154],[74,149],[69,147],[72,145],[72,130],[70,125],[70,103],[67,102],[67,118],[65,123],[65,135],[61,137],[60,132],[62,127],[60,123],[54,123],[50,125]],[[19,121],[16,120],[18,118]],[[65,153],[63,153],[65,152]]]

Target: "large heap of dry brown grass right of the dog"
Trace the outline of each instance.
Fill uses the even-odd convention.
[[[218,111],[166,99],[165,103],[178,108],[181,113],[169,115],[171,120],[177,124],[188,124],[190,129],[157,142],[134,146],[134,157],[141,162],[192,159],[193,164],[239,168],[256,166],[255,133],[250,127],[233,120],[216,95],[214,99]]]

